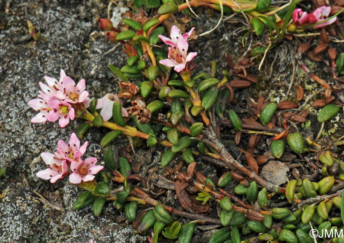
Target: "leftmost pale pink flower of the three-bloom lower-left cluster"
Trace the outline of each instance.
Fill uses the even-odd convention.
[[[49,165],[48,169],[39,171],[36,176],[43,180],[50,180],[51,183],[64,178],[68,173],[68,164],[66,160],[60,160],[56,154],[50,152],[42,152],[43,161]]]

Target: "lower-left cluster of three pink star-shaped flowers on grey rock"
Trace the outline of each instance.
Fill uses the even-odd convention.
[[[69,144],[59,140],[57,143],[57,152],[42,152],[41,157],[48,169],[37,172],[36,176],[43,180],[50,180],[51,183],[57,182],[69,175],[69,181],[74,184],[79,184],[82,181],[93,181],[95,174],[101,171],[104,167],[96,165],[97,158],[89,157],[82,159],[86,152],[88,142],[80,146],[80,140],[75,133],[72,133],[69,139]],[[69,169],[72,173],[69,173]]]

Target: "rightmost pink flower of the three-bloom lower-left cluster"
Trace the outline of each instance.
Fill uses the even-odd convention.
[[[73,184],[93,181],[93,175],[104,168],[104,166],[96,165],[96,162],[97,158],[95,157],[86,158],[80,162],[72,161],[70,169],[73,173],[69,175],[69,181]]]

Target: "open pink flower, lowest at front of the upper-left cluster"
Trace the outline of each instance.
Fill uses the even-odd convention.
[[[52,109],[48,116],[49,122],[56,122],[58,120],[60,127],[65,127],[69,124],[69,119],[74,120],[74,108],[66,101],[50,100],[48,101],[48,105]]]

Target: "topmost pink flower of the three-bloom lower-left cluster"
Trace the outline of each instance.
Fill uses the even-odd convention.
[[[72,162],[73,160],[79,161],[81,156],[86,152],[88,142],[86,141],[83,146],[80,147],[80,140],[73,132],[69,139],[69,144],[63,140],[59,140],[57,143],[57,152],[65,160]]]

